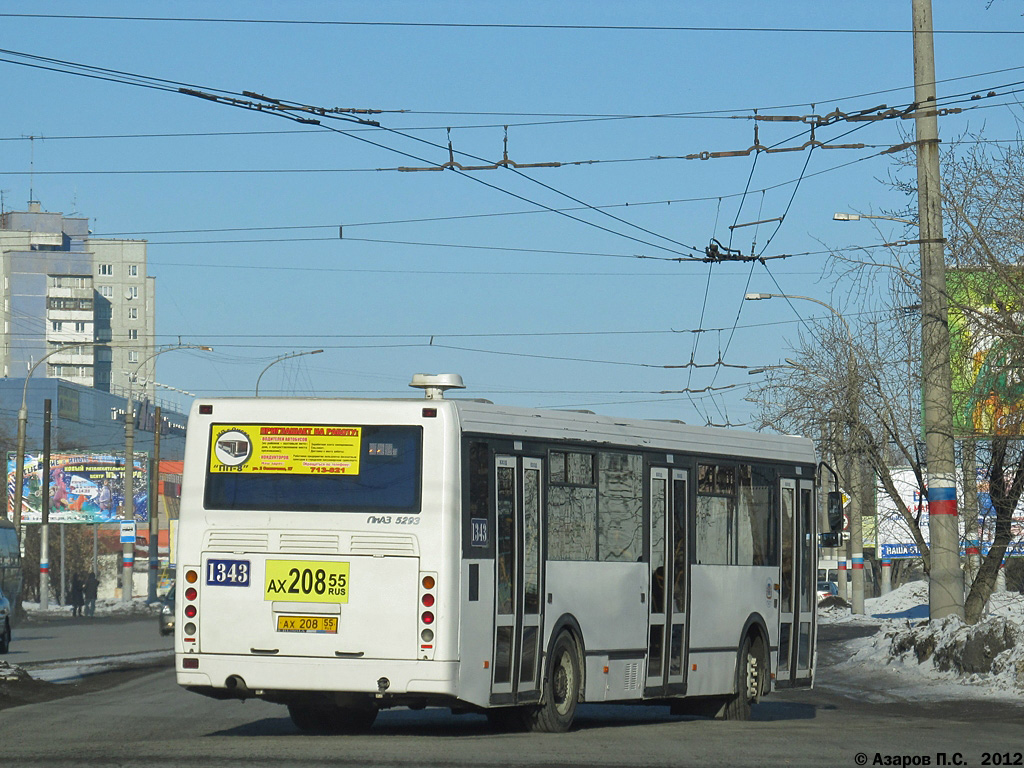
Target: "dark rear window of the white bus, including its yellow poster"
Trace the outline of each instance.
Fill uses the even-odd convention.
[[[206,509],[420,511],[420,427],[214,424],[211,429]]]

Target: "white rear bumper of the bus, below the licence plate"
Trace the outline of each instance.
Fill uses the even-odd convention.
[[[198,659],[199,668],[184,669],[186,658]],[[386,680],[389,695],[458,698],[457,662],[176,653],[174,667],[179,685],[227,690],[242,682],[258,696],[278,691],[376,694]]]

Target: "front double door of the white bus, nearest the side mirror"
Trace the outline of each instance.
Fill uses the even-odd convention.
[[[782,567],[776,682],[781,687],[809,685],[814,650],[814,483],[779,481]]]

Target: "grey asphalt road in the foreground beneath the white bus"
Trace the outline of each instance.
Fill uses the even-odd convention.
[[[0,764],[980,766],[986,753],[1012,762],[1024,752],[1024,708],[906,700],[884,678],[841,674],[836,638],[858,631],[823,628],[819,685],[772,694],[749,723],[672,717],[664,707],[584,706],[570,733],[510,734],[492,731],[480,716],[395,710],[367,735],[307,736],[284,707],[197,696],[161,669],[105,690],[0,711]]]

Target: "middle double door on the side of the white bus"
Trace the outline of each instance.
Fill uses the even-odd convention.
[[[645,696],[686,691],[687,472],[650,470],[650,599]]]

